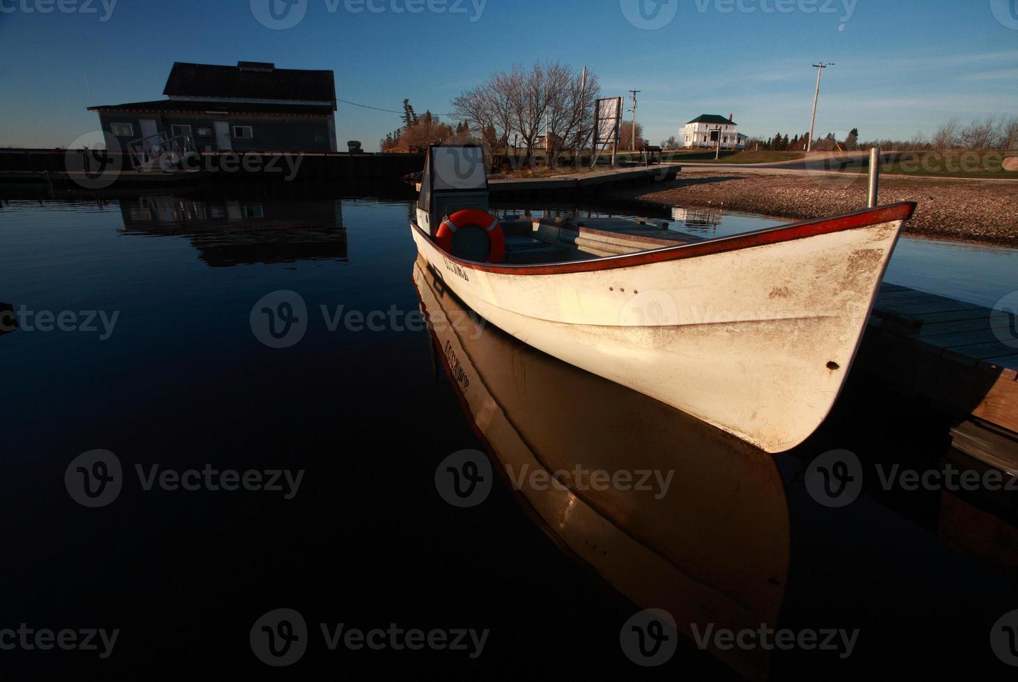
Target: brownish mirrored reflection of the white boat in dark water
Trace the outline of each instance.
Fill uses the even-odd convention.
[[[419,258],[413,279],[450,382],[505,479],[577,467],[613,476],[649,470],[652,481],[672,472],[670,486],[648,491],[523,478],[517,499],[546,530],[634,604],[671,614],[693,641],[691,624],[701,637],[711,625],[775,626],[789,514],[773,457],[486,326]],[[767,677],[761,647],[708,650],[750,678]]]

